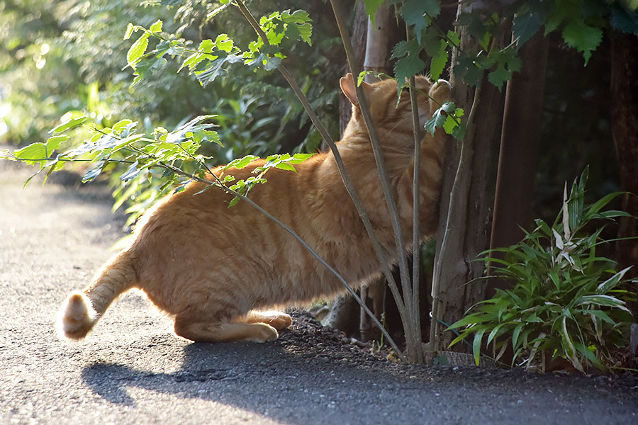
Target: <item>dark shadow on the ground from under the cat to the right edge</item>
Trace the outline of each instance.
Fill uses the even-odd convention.
[[[184,363],[174,373],[96,362],[84,368],[82,379],[121,406],[136,406],[128,389],[138,387],[230,404],[284,424],[388,423],[388,414],[407,424],[466,422],[470,416],[479,423],[515,424],[522,417],[541,423],[552,417],[579,424],[578,412],[592,423],[608,423],[606,409],[591,404],[609,402],[616,418],[638,412],[634,375],[586,378],[399,365],[349,344],[306,312],[293,317],[293,327],[273,343],[185,346]],[[155,348],[148,346],[150,354]]]

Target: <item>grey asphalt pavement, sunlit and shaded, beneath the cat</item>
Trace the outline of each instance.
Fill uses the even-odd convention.
[[[123,217],[106,186],[22,188],[31,171],[0,161],[0,424],[638,424],[637,380],[191,344],[135,292],[62,341],[57,309],[111,256]]]

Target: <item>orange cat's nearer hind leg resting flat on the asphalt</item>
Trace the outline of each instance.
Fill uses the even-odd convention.
[[[175,333],[195,342],[266,342],[279,337],[274,327],[265,323],[201,322],[175,319]]]

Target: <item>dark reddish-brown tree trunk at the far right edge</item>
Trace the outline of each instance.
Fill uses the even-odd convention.
[[[623,198],[622,209],[638,217],[638,37],[612,33],[611,41],[612,134],[620,164],[620,184],[623,191],[631,193]],[[638,220],[623,217],[618,237],[638,237]],[[620,266],[634,266],[628,274],[637,277],[636,239],[618,242],[617,251]],[[638,283],[634,283],[633,290],[638,292]],[[631,307],[637,320],[638,304]]]

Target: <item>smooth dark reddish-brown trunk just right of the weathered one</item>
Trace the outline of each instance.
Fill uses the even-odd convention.
[[[520,227],[530,227],[548,45],[542,31],[532,37],[519,52],[521,72],[508,81],[490,249],[517,244],[524,236]],[[496,288],[505,283],[490,279],[486,296]]]

